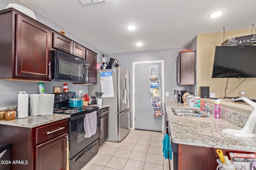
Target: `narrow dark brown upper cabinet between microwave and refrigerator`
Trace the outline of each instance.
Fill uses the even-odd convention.
[[[96,84],[97,82],[97,54],[86,50],[86,61],[89,61],[89,80],[88,83]]]

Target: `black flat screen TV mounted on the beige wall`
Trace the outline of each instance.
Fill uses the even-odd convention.
[[[212,78],[256,77],[256,45],[216,46]]]

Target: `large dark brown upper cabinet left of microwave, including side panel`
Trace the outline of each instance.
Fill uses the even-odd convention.
[[[0,23],[0,78],[50,81],[50,29],[12,9]]]

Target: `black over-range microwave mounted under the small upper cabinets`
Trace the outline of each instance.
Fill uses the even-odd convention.
[[[86,83],[89,62],[74,55],[52,50],[52,80]]]

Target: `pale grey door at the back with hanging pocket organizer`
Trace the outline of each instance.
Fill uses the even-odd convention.
[[[150,100],[150,76],[148,66],[158,65],[160,80],[162,79],[162,63],[135,63],[134,64],[134,99],[133,99],[133,115],[134,129],[143,129],[151,131],[163,131],[163,117],[154,117],[151,109]],[[163,90],[162,81],[160,81],[161,91]],[[164,92],[162,92],[164,93]],[[164,110],[162,110],[164,111]]]

